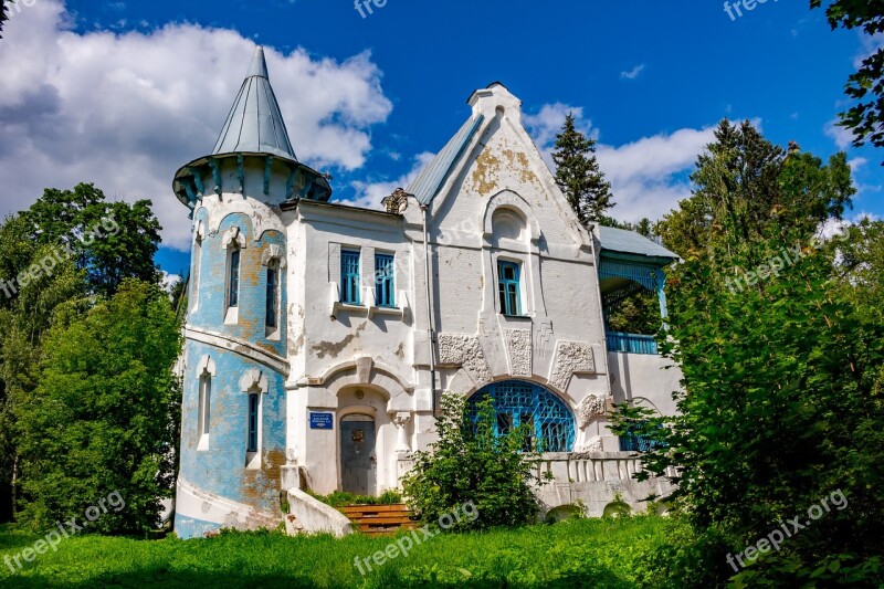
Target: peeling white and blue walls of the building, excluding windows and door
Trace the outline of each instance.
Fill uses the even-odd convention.
[[[592,238],[522,126],[518,99],[497,85],[471,104],[484,123],[430,204],[436,389],[472,395],[518,378],[546,387],[575,416],[612,392],[669,397],[672,377],[656,378],[657,365],[606,353]],[[229,519],[248,527],[277,516],[283,469],[297,469],[312,491],[339,490],[348,416],[375,424],[377,493],[397,487],[408,454],[435,441],[423,213],[414,199],[401,215],[308,200],[283,210],[285,169],[273,168],[264,193],[263,160],[246,157],[240,193],[239,170],[225,161],[222,194],[203,196],[194,214],[200,281],[186,334],[181,450],[190,486],[179,488],[176,523],[186,537]],[[231,320],[224,240],[239,239],[236,229],[244,248]],[[359,305],[340,303],[343,250],[360,253]],[[264,319],[270,251],[285,262],[277,338],[267,337]],[[396,308],[376,304],[377,253],[394,256]],[[499,261],[519,265],[520,316],[502,313]],[[210,443],[200,449],[198,368],[206,357],[217,376]],[[241,379],[250,370],[266,379],[260,467],[246,464]],[[332,429],[311,427],[313,413],[330,414]],[[618,450],[603,411],[576,428],[575,450]]]

